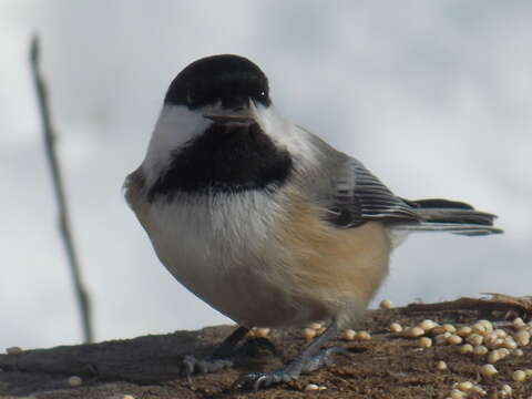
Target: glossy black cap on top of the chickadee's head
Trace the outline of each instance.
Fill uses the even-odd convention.
[[[170,84],[165,104],[198,109],[218,102],[225,109],[247,106],[249,99],[268,106],[268,79],[260,69],[244,57],[233,54],[200,59]]]

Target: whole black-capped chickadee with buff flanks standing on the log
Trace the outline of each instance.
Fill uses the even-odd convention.
[[[495,215],[450,200],[406,200],[274,106],[247,58],[198,59],[171,82],[142,164],[124,195],[166,269],[238,326],[183,374],[233,365],[252,327],[326,320],[324,334],[277,370],[235,382],[295,380],[345,354],[324,345],[361,317],[412,232],[501,233]]]

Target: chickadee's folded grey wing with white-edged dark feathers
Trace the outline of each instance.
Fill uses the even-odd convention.
[[[382,184],[361,162],[347,157],[334,176],[330,222],[356,227],[369,221],[417,224],[420,216]]]

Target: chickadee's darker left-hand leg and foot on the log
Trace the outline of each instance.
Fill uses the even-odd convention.
[[[191,376],[194,372],[208,374],[232,367],[235,349],[248,331],[249,328],[247,327],[238,327],[206,358],[198,359],[193,355],[185,356],[181,366],[181,375],[192,385]]]

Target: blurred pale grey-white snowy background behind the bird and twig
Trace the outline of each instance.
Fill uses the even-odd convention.
[[[376,297],[532,295],[532,2],[2,0],[0,348],[81,341],[31,82],[41,38],[98,340],[229,323],[160,265],[121,185],[173,76],[250,58],[289,120],[397,194],[500,215],[502,236],[411,236]]]

